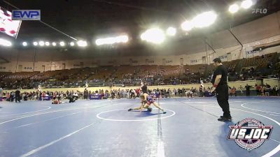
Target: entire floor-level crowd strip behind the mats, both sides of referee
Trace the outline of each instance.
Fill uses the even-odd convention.
[[[19,89],[10,92],[3,92],[3,100],[13,102],[17,100],[16,92]],[[255,91],[257,96],[280,96],[280,90],[278,86],[271,87],[269,84],[255,84],[255,87],[249,86],[245,87],[229,87],[230,96],[251,96],[251,92]],[[171,97],[188,97],[193,98],[194,96],[199,97],[209,97],[214,96],[211,93],[211,89],[205,88],[200,85],[199,89],[191,87],[190,89],[148,89],[148,94],[154,98],[171,98]],[[22,92],[18,95],[18,100],[69,100],[71,98],[86,99],[86,100],[99,100],[99,99],[120,99],[120,98],[139,98],[141,95],[141,89],[113,89],[113,90],[103,90],[99,89],[96,91],[33,91],[33,92]],[[73,99],[72,99],[73,100]]]

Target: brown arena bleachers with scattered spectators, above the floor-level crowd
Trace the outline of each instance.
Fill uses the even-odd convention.
[[[249,59],[224,61],[229,81],[254,80],[262,77],[278,77],[279,54],[272,53]],[[101,66],[40,72],[0,72],[3,89],[102,86],[136,86],[141,81],[148,85],[193,84],[210,82],[214,70],[212,64],[186,66]]]

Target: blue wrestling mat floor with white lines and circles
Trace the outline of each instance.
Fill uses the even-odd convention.
[[[1,102],[0,156],[280,156],[280,98],[230,98],[232,122],[217,121],[222,111],[216,98],[162,98],[167,114],[127,112],[139,102]],[[274,126],[270,140],[250,152],[227,140],[228,125],[245,118]]]

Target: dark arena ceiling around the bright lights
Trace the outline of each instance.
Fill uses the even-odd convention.
[[[237,0],[6,0],[20,9],[40,9],[41,20],[74,38],[94,42],[96,38],[128,33],[132,42],[126,49],[145,49],[140,33],[150,27],[180,29],[183,21],[207,10],[218,13],[218,24],[204,33],[229,29],[280,10],[279,0],[255,0],[253,8],[267,8],[267,14],[252,14],[252,9],[241,11],[235,17],[228,6]],[[0,6],[13,10],[0,1]],[[196,36],[195,32],[193,33]],[[200,33],[197,33],[200,36]],[[181,31],[179,40],[188,38]],[[18,40],[66,40],[71,38],[46,27],[38,21],[23,21]],[[176,40],[175,40],[176,41]],[[96,48],[92,48],[96,49]],[[109,48],[110,49],[110,48]]]

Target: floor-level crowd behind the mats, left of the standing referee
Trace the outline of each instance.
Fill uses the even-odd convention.
[[[16,91],[3,92],[3,100],[13,102],[16,99]],[[147,91],[148,94],[154,96],[154,98],[170,98],[170,97],[193,97],[193,96],[211,96],[210,89],[154,89]],[[96,91],[33,91],[33,92],[22,92],[19,97],[20,100],[66,100],[69,97],[83,98],[83,99],[120,99],[120,98],[139,98],[141,95],[141,89],[114,89],[114,90],[103,90],[99,89]]]

